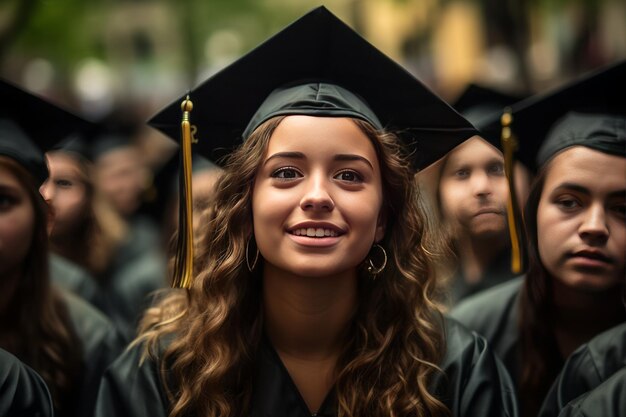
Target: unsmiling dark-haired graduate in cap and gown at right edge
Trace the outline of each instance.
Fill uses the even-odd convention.
[[[626,63],[512,108],[518,156],[538,168],[525,207],[525,278],[452,316],[487,338],[535,416],[567,358],[626,320]],[[536,156],[536,160],[535,160]]]

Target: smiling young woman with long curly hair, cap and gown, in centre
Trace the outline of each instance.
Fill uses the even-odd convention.
[[[255,88],[269,89],[261,97],[243,100],[242,63]],[[339,86],[357,74],[363,98]],[[508,376],[484,341],[444,322],[432,301],[412,161],[383,123],[397,116],[407,130],[424,127],[425,137],[433,127],[456,143],[473,129],[324,8],[192,93],[196,108],[224,85],[244,88],[230,91],[227,112],[254,108],[237,116],[245,141],[203,217],[193,283],[145,316],[96,414],[515,415]],[[406,112],[426,102],[456,128]],[[197,117],[200,137],[221,117]]]

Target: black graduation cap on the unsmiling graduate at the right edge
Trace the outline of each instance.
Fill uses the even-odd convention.
[[[574,145],[614,154],[621,148],[623,155],[626,100],[620,86],[624,83],[626,61],[511,106],[517,158],[537,169],[556,152]]]

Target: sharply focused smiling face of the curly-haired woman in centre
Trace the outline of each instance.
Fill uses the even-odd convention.
[[[266,268],[309,277],[354,272],[384,236],[382,202],[376,151],[352,120],[286,117],[253,189]]]

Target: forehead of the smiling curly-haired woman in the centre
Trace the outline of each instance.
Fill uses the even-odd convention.
[[[303,152],[307,156],[359,154],[377,162],[372,141],[345,117],[288,116],[274,130],[267,154]]]

